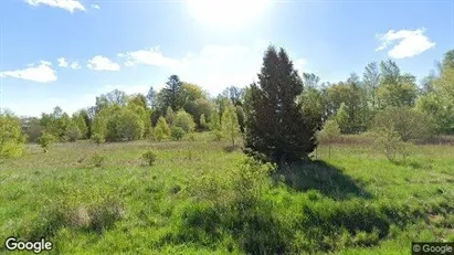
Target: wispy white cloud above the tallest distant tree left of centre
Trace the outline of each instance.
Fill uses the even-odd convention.
[[[118,56],[126,59],[126,66],[134,66],[139,64],[154,66],[172,66],[178,62],[170,57],[163,56],[159,51],[159,47],[119,53]]]

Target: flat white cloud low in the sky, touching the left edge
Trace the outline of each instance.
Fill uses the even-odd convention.
[[[50,83],[56,81],[56,72],[52,68],[51,62],[41,61],[39,65],[30,64],[23,70],[1,72],[0,77],[21,78],[36,83]]]

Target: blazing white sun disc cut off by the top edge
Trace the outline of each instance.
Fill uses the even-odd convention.
[[[255,21],[270,0],[188,0],[191,14],[202,24],[240,28]]]

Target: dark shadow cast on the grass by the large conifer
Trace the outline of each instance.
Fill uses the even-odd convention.
[[[372,198],[363,189],[365,184],[361,181],[353,180],[345,174],[342,169],[321,160],[282,166],[273,178],[275,181],[283,181],[296,191],[317,190],[334,200]]]

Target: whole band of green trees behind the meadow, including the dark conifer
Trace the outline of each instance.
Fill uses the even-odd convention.
[[[22,119],[6,111],[0,117],[0,155],[18,155],[6,151],[25,139],[161,141],[210,130],[214,139],[233,145],[242,134],[246,151],[276,161],[313,151],[315,134],[326,123],[340,134],[391,127],[402,140],[454,134],[454,50],[420,85],[392,60],[369,63],[361,76],[352,73],[346,81],[321,83],[315,74],[299,75],[285,50],[274,46],[266,50],[257,77],[245,88],[231,86],[217,97],[171,75],[158,92],[150,87],[146,95],[127,95],[115,89],[72,116],[60,107]]]

